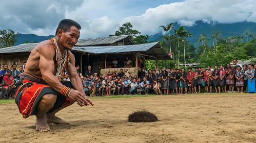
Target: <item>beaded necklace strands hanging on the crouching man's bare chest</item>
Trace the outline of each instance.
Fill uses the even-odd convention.
[[[55,77],[57,78],[58,76],[61,76],[64,73],[65,65],[67,62],[68,62],[68,65],[70,66],[69,52],[68,50],[65,50],[64,54],[62,54],[60,47],[58,47],[56,38],[53,37],[50,40],[53,42],[53,47],[55,49],[55,54],[56,54],[57,72]]]

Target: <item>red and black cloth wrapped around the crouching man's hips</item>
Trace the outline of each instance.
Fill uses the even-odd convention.
[[[37,115],[37,106],[40,103],[41,98],[47,93],[52,93],[57,96],[53,108],[48,111],[49,113],[70,103],[70,99],[66,99],[60,92],[57,92],[49,85],[33,82],[34,80],[31,81],[31,78],[22,76],[21,79],[22,80],[16,84],[15,102],[19,112],[24,118],[27,118],[30,115]],[[69,81],[64,82],[63,85],[73,88]]]

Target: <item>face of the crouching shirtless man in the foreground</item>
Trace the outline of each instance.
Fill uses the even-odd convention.
[[[60,38],[61,45],[64,47],[64,49],[71,50],[80,37],[80,30],[78,30],[75,26],[71,26],[66,32],[63,30],[60,32],[59,31],[57,36]]]

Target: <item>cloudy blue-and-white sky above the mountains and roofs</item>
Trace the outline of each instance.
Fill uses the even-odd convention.
[[[256,0],[9,0],[1,1],[0,13],[0,29],[48,36],[69,18],[82,26],[81,38],[93,38],[126,22],[144,35],[160,32],[166,22],[256,22]]]

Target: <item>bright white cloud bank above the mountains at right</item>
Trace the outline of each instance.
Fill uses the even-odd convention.
[[[203,19],[204,22],[220,23],[256,21],[255,12],[250,14],[254,9],[255,0],[187,0],[149,8],[142,15],[124,18],[122,23],[131,22],[142,34],[151,35],[160,31],[159,26],[166,25],[166,21],[178,21],[184,26],[192,26],[196,20]]]

